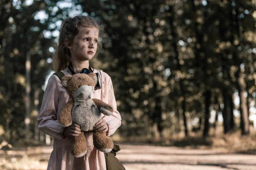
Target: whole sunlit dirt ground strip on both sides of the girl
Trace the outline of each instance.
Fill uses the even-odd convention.
[[[256,154],[120,144],[126,170],[256,170]],[[46,170],[52,147],[0,150],[0,170]]]

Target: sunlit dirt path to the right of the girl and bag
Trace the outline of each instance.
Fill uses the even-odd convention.
[[[256,155],[177,147],[120,145],[126,170],[256,170]]]

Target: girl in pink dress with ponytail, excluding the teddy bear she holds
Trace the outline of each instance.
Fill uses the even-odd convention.
[[[112,116],[102,114],[102,119],[94,125],[94,130],[106,132],[107,136],[111,136],[121,125],[111,78],[103,71],[89,66],[89,60],[101,47],[98,39],[102,31],[103,26],[92,17],[77,16],[65,19],[61,24],[53,67],[56,72],[61,71],[64,74],[76,74],[87,68],[100,75],[102,85],[96,89],[94,98],[111,105],[114,113]],[[76,124],[64,127],[58,122],[57,117],[61,108],[71,99],[61,85],[61,80],[53,74],[49,78],[38,116],[39,130],[53,137],[53,151],[47,170],[106,170],[104,153],[93,147],[93,132],[84,133],[87,139],[85,156],[76,158],[70,152],[71,139],[73,136],[79,136],[81,129]]]

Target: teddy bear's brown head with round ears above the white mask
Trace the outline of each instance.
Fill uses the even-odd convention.
[[[80,88],[82,85],[89,85],[95,87],[97,84],[97,76],[95,73],[78,73],[72,75],[65,75],[61,79],[61,84],[67,89],[67,92],[70,95],[73,95],[73,93]]]

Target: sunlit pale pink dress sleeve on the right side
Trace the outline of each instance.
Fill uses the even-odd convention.
[[[108,96],[108,105],[110,105],[114,110],[112,116],[105,116],[103,118],[108,125],[107,136],[111,136],[121,125],[121,116],[120,113],[117,111],[116,98],[114,95],[111,78],[108,80],[106,93],[106,95]]]

